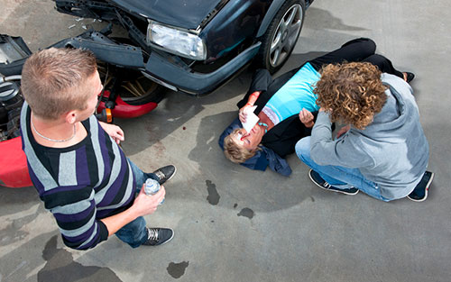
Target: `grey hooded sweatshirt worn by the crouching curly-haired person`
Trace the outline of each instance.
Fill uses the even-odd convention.
[[[382,83],[388,86],[387,102],[364,130],[351,126],[342,138],[332,140],[328,114],[318,114],[310,156],[318,165],[359,168],[392,200],[408,196],[417,186],[428,166],[429,147],[410,85],[386,73]]]

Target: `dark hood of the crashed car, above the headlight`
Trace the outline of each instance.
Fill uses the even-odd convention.
[[[111,0],[132,14],[141,14],[159,23],[196,29],[224,0]]]

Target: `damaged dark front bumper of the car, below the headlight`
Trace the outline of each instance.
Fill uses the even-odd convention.
[[[140,47],[124,45],[110,40],[101,32],[84,32],[77,37],[68,38],[53,44],[52,47],[73,47],[91,50],[97,59],[124,68],[137,68],[143,74],[162,86],[191,95],[206,95],[223,85],[229,78],[249,63],[260,48],[257,42],[238,54],[234,59],[210,73],[194,72],[182,67],[152,51],[144,62]]]

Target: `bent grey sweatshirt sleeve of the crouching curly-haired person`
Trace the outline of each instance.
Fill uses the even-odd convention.
[[[310,141],[310,157],[321,166],[362,168],[373,166],[373,158],[360,150],[354,140],[359,136],[351,129],[343,137],[332,140],[332,124],[326,112],[318,114]]]

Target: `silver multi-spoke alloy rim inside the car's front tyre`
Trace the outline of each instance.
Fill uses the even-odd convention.
[[[301,6],[295,4],[281,18],[276,32],[272,35],[269,51],[272,68],[280,66],[294,48],[302,24],[302,17]]]

